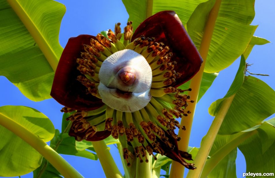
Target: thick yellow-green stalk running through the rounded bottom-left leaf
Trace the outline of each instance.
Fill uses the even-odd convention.
[[[46,160],[48,160],[61,175],[65,178],[83,178],[78,171],[76,171],[64,158],[56,153],[50,146],[47,145],[42,139],[31,133],[25,127],[16,123],[14,120],[0,114],[0,125],[9,129],[18,137],[26,141],[37,152],[42,154]]]

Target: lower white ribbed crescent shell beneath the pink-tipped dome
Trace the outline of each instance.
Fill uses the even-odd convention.
[[[122,112],[135,112],[144,108],[151,100],[150,89],[142,93],[123,95],[115,88],[108,88],[103,83],[98,85],[102,102],[110,108]],[[126,97],[126,98],[125,98]]]

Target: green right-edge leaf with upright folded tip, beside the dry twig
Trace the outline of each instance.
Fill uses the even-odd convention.
[[[275,97],[275,91],[260,79],[253,76],[244,77],[245,70],[246,64],[242,57],[240,68],[229,91],[224,98],[213,102],[208,109],[209,113],[215,116],[223,100],[235,94],[219,134],[233,134],[249,129],[275,112],[275,101],[271,99]]]

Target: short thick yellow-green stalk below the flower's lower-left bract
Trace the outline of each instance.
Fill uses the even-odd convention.
[[[123,178],[116,166],[116,163],[114,162],[112,155],[110,154],[110,151],[108,150],[106,143],[103,140],[92,141],[92,143],[106,177]]]

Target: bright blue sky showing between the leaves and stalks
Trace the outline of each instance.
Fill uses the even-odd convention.
[[[114,29],[114,24],[117,22],[121,22],[123,27],[129,17],[123,3],[120,1],[81,0],[75,3],[76,1],[73,0],[59,0],[59,2],[63,3],[67,9],[61,23],[59,35],[59,41],[62,47],[65,47],[69,37],[75,37],[80,34],[96,35],[102,30],[108,30],[109,28]],[[256,15],[252,22],[252,25],[259,25],[254,35],[268,39],[271,42],[275,42],[274,7],[274,0],[256,0]],[[273,43],[255,46],[247,59],[249,64],[253,64],[249,68],[250,72],[270,75],[257,77],[272,88],[275,88],[274,51],[275,47]],[[221,71],[213,85],[197,104],[189,143],[190,146],[199,147],[201,138],[206,134],[213,120],[213,117],[208,114],[208,107],[216,99],[222,98],[225,95],[238,70],[239,63],[240,59],[237,59],[231,66]],[[62,113],[60,109],[62,106],[54,99],[32,102],[22,95],[20,91],[3,76],[0,76],[0,85],[2,86],[0,87],[0,106],[23,105],[35,108],[48,116],[54,123],[56,129],[61,130]],[[114,155],[120,171],[123,172],[116,147],[111,146],[111,153]],[[105,177],[99,161],[68,155],[62,156],[84,177]],[[244,157],[240,151],[238,151],[236,167],[237,177],[242,177],[242,173],[245,172],[246,167]],[[187,171],[185,171],[185,173],[186,172]],[[30,178],[32,177],[32,173],[21,177]]]

